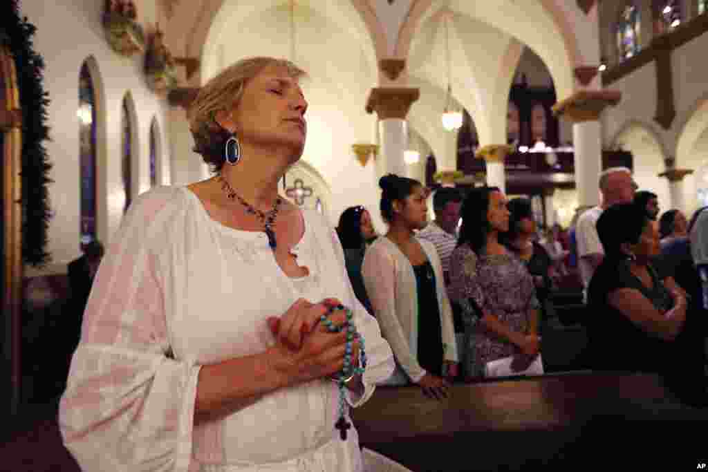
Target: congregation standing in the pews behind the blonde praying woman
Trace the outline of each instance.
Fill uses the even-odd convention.
[[[530,200],[507,201],[498,188],[472,188],[464,197],[438,188],[435,219],[426,224],[421,183],[388,175],[380,185],[384,217],[406,224],[372,243],[367,211],[357,207],[361,226],[340,224],[338,231],[343,240],[367,235],[360,236],[358,262],[348,260],[348,273],[353,284],[363,279],[358,297],[372,306],[392,345],[400,367],[393,384],[418,384],[435,396],[431,379],[444,393],[453,381],[543,374],[542,327],[556,321],[554,294],[574,280],[586,292],[583,367],[656,372],[686,401],[705,403],[704,208],[690,224],[677,209],[658,218],[656,195],[635,192],[628,168],[608,168],[598,182],[601,204],[570,229],[573,247],[561,236],[567,231],[537,228]],[[426,284],[431,278],[442,283]],[[453,339],[457,357],[445,357]],[[453,360],[459,374],[450,374],[446,363]],[[507,368],[490,370],[499,361]]]

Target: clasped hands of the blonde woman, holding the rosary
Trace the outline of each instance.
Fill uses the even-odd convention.
[[[337,299],[325,299],[312,304],[298,299],[280,317],[268,318],[268,327],[275,337],[275,345],[270,347],[273,368],[283,379],[285,386],[332,376],[344,367],[346,350],[346,330],[331,333],[321,316],[334,309],[329,319],[336,326],[346,322],[346,312],[335,309],[341,305]],[[352,341],[352,361],[359,359],[359,340]]]

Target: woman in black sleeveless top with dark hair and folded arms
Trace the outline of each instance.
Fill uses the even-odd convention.
[[[649,260],[658,231],[634,204],[612,205],[598,219],[605,258],[588,287],[588,337],[595,369],[666,372],[683,329],[686,299],[659,280]]]

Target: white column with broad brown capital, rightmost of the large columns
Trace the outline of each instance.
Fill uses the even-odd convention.
[[[573,122],[574,166],[578,207],[586,209],[600,202],[598,177],[603,168],[603,137],[600,113],[617,105],[622,92],[582,90],[556,103],[553,112]]]

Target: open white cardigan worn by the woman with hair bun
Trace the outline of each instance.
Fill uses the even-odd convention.
[[[436,292],[440,310],[442,344],[445,359],[457,362],[455,327],[452,309],[447,299],[438,251],[430,241],[416,237],[435,272]],[[416,274],[408,258],[387,237],[378,238],[366,251],[362,275],[367,295],[382,335],[389,342],[397,366],[387,384],[401,385],[419,381],[427,372],[418,364],[418,290]],[[401,372],[401,369],[404,372]],[[407,376],[407,377],[406,377]]]

